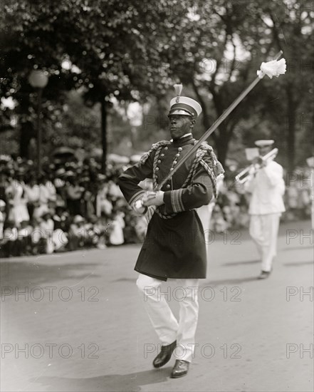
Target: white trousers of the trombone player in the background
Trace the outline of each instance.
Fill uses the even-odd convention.
[[[251,215],[249,232],[261,257],[262,271],[271,271],[277,254],[277,237],[281,213]]]

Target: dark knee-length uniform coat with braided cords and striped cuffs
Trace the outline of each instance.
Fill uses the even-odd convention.
[[[145,191],[138,183],[152,178],[154,189],[193,147],[196,140],[187,135],[152,145],[136,165],[119,177],[119,185],[130,205]],[[155,209],[135,270],[161,280],[206,278],[206,244],[198,207],[207,205],[216,192],[216,177],[224,172],[207,143],[192,155],[166,182],[164,205]],[[149,209],[149,210],[150,210]]]

